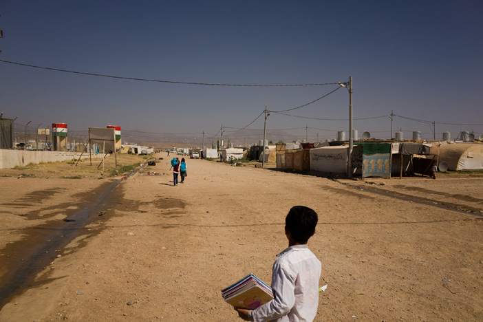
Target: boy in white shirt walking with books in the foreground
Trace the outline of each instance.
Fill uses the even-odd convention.
[[[319,305],[321,262],[308,249],[318,217],[305,206],[294,206],[285,219],[288,248],[273,264],[274,299],[255,310],[235,308],[246,321],[313,321]]]

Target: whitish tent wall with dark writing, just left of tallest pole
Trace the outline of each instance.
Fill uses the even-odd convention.
[[[310,170],[346,173],[347,146],[310,149]]]

